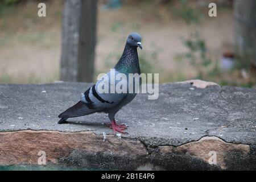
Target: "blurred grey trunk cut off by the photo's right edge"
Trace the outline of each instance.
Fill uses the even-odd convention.
[[[256,1],[234,1],[237,53],[242,64],[256,67]]]

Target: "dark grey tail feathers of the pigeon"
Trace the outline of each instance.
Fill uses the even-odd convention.
[[[69,107],[69,109],[61,113],[59,115],[59,118],[75,118],[80,117],[82,115],[96,113],[97,111],[97,109],[89,109],[84,102],[79,101],[77,102],[77,104],[73,105],[72,107]]]

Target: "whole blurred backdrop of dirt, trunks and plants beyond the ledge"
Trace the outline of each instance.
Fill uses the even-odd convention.
[[[46,17],[38,16],[40,2]],[[142,72],[159,73],[160,82],[255,88],[256,1],[95,2],[0,0],[0,82],[96,81],[117,63],[127,35],[139,32]]]

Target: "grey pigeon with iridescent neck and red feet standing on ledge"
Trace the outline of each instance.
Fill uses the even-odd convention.
[[[114,73],[125,74],[127,78],[129,73],[141,74],[141,69],[139,67],[139,58],[137,48],[142,49],[141,44],[141,35],[137,32],[131,33],[126,41],[125,49],[123,50],[122,56],[119,59],[118,63],[114,67]],[[110,72],[106,73],[106,76],[110,76]],[[127,80],[122,79],[123,84],[127,84],[127,92],[123,93],[102,93],[99,92],[98,86],[102,84],[102,80],[98,80],[96,84],[91,86],[88,90],[84,92],[81,96],[81,100],[77,104],[69,107],[63,113],[59,115],[60,121],[59,124],[68,123],[68,118],[81,117],[84,115],[89,115],[92,113],[108,113],[110,120],[110,129],[113,130],[113,133],[116,132],[126,134],[125,130],[127,129],[126,125],[118,125],[115,122],[115,114],[125,105],[129,104],[136,93],[134,88],[133,92],[129,90],[129,84]],[[109,83],[110,84],[110,81]],[[114,81],[114,84],[117,85],[118,81]],[[140,82],[141,85],[141,82]]]

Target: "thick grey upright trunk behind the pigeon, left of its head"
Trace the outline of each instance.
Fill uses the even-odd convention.
[[[96,0],[64,1],[61,80],[93,81],[96,15]]]

